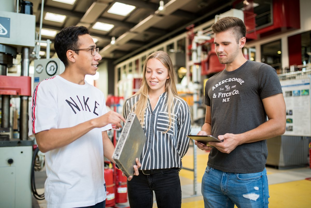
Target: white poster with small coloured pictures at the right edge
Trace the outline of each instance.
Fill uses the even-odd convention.
[[[310,78],[281,80],[286,104],[284,135],[311,136]]]

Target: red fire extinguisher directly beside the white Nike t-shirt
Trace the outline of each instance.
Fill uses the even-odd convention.
[[[115,205],[115,184],[113,170],[105,165],[104,178],[107,189],[106,207]]]

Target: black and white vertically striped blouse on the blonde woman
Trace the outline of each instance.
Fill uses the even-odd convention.
[[[139,96],[134,96],[124,102],[125,119],[138,99]],[[167,94],[164,92],[160,95],[156,107],[152,111],[148,99],[148,107],[142,125],[147,140],[140,157],[141,170],[182,168],[181,159],[189,147],[189,138],[186,135],[189,135],[191,130],[190,110],[182,98],[175,97],[174,111],[172,112],[174,119],[169,131],[163,134],[169,127],[166,102]]]

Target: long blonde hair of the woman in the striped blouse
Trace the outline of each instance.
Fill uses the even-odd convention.
[[[142,87],[139,88],[138,92],[136,92],[133,96],[139,95],[139,100],[136,102],[136,104],[133,106],[135,107],[135,113],[140,120],[140,122],[144,123],[144,115],[148,104],[148,92],[149,92],[149,86],[146,81],[146,65],[147,61],[149,59],[158,59],[165,68],[169,71],[169,78],[166,80],[165,83],[165,92],[167,93],[167,113],[169,115],[169,128],[171,128],[172,125],[172,115],[173,112],[173,106],[174,106],[174,97],[178,97],[177,89],[176,89],[176,83],[177,83],[177,75],[173,67],[173,63],[171,58],[169,57],[169,54],[166,52],[159,50],[156,52],[153,52],[148,56],[148,58],[145,60],[144,67],[142,70]],[[132,109],[133,110],[133,109]],[[167,130],[167,131],[168,131]],[[165,133],[167,132],[165,131]]]

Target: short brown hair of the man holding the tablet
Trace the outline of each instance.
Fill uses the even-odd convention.
[[[214,33],[224,32],[229,29],[233,29],[237,43],[242,37],[246,36],[244,22],[238,17],[223,17],[212,25],[212,31]]]

